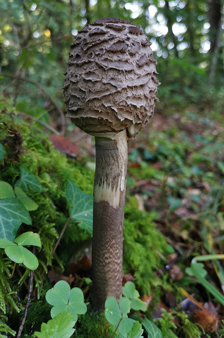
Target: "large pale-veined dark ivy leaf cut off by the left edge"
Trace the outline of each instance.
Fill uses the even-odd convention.
[[[0,238],[13,241],[22,223],[32,224],[29,211],[16,198],[0,200]]]

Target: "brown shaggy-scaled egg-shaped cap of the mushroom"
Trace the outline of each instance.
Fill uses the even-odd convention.
[[[143,29],[117,18],[99,19],[78,32],[64,80],[67,117],[91,135],[134,137],[157,101],[156,64]]]

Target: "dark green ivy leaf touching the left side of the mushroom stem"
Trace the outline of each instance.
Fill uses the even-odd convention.
[[[79,226],[92,234],[93,196],[68,181],[65,197],[69,204],[69,216],[82,224]]]

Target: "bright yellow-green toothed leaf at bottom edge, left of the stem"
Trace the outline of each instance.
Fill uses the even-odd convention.
[[[42,323],[40,332],[35,331],[34,335],[37,338],[69,338],[75,331],[75,323],[71,313],[64,311],[47,323]]]

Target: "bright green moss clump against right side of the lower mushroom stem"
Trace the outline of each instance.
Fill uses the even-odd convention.
[[[132,203],[132,204],[131,204]],[[155,212],[144,214],[136,209],[132,199],[126,203],[123,232],[123,268],[124,273],[135,269],[136,284],[143,293],[150,294],[152,285],[161,284],[153,271],[161,266],[161,254],[166,254],[166,239],[156,230],[153,220],[157,217]]]

